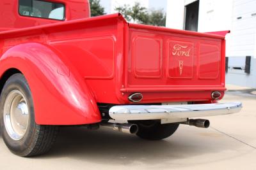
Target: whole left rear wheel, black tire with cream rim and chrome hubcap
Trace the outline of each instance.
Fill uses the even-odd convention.
[[[4,84],[0,115],[4,143],[13,153],[31,157],[50,150],[58,127],[35,123],[31,91],[22,74],[13,74]]]

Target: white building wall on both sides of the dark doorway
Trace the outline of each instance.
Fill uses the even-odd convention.
[[[185,6],[196,0],[168,0],[166,27],[184,28]],[[199,6],[198,32],[230,30],[233,0],[201,0]]]

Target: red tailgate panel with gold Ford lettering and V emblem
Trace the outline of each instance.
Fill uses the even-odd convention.
[[[225,37],[129,24],[124,92],[225,90]]]

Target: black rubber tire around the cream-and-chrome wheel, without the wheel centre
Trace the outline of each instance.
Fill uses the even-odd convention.
[[[24,97],[24,100],[26,101],[26,108],[28,111],[28,118],[26,117],[26,130],[24,130],[24,134],[21,139],[13,139],[13,137],[11,137],[12,135],[10,135],[10,130],[6,131],[5,124],[7,123],[4,123],[4,121],[7,121],[6,118],[4,119],[4,106],[6,107],[4,103],[8,94],[13,91],[19,91],[22,94],[22,97]],[[24,78],[20,73],[10,76],[4,84],[0,96],[0,116],[1,134],[4,139],[4,143],[8,146],[11,152],[21,157],[32,157],[49,152],[58,134],[58,126],[38,125],[35,123],[34,104],[31,96],[31,90],[29,89],[26,78]]]

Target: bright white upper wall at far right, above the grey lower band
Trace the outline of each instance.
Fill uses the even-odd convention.
[[[234,0],[229,56],[256,56],[256,1]]]

